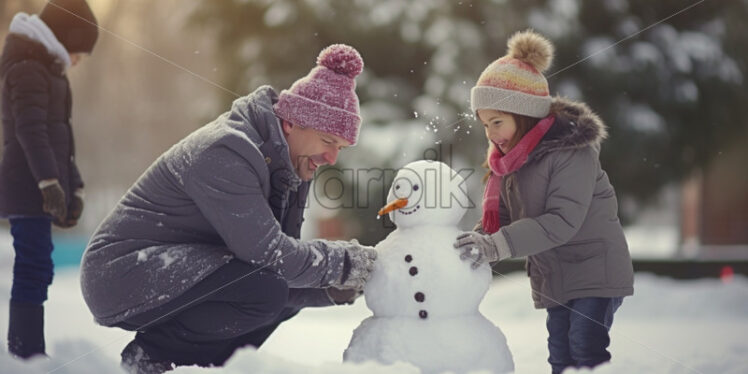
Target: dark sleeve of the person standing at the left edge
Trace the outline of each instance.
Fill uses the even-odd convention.
[[[14,65],[7,73],[16,137],[36,181],[58,178],[57,161],[47,133],[49,83],[45,68],[33,61]]]

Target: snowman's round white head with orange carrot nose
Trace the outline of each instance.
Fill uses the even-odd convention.
[[[457,225],[467,211],[465,180],[439,161],[421,160],[397,172],[379,215],[389,214],[398,227]]]

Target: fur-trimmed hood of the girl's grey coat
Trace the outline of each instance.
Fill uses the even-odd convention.
[[[528,161],[549,152],[589,145],[599,151],[600,143],[608,137],[603,121],[585,103],[556,96],[551,103],[550,114],[556,117],[556,122],[530,153]]]

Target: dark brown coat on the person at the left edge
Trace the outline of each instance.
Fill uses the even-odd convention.
[[[12,33],[0,60],[0,82],[0,216],[41,216],[39,181],[58,179],[68,203],[83,187],[70,126],[70,83],[42,44]]]

